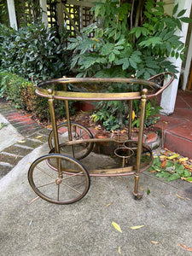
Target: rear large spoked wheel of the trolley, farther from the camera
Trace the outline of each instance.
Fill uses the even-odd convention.
[[[57,125],[60,153],[73,156],[73,158],[77,160],[83,159],[85,156],[90,154],[94,146],[94,143],[84,143],[83,140],[91,139],[93,138],[93,135],[86,127],[84,127],[84,125],[79,125],[78,123],[71,122],[71,129],[72,129],[72,140],[73,141],[82,140],[82,143],[67,145],[66,144],[68,141],[67,122],[61,123],[60,125]],[[55,148],[53,131],[50,131],[49,133],[48,142],[49,142],[50,149]]]

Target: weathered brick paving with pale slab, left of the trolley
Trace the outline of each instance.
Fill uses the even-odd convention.
[[[18,162],[48,139],[49,131],[42,129],[30,116],[8,103],[0,102],[0,178],[10,172]],[[1,136],[2,134],[2,136]],[[6,134],[6,140],[4,139]]]

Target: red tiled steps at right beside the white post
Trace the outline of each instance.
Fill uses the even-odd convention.
[[[163,133],[165,148],[192,159],[192,93],[178,90],[174,113],[160,115],[155,127]]]

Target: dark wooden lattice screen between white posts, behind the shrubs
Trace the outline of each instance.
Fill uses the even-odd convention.
[[[4,0],[0,0],[1,1]],[[86,0],[47,0],[49,26],[61,27],[67,24],[67,31],[72,37],[80,34],[80,30],[93,22],[93,3]],[[92,0],[93,1],[93,0]],[[39,0],[15,0],[15,12],[18,27],[39,20]],[[90,35],[91,36],[91,35]]]

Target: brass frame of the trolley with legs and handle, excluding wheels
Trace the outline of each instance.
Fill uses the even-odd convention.
[[[163,86],[160,86],[157,83],[154,83],[153,79],[158,78],[159,76],[169,75],[169,81],[166,82]],[[68,128],[68,142],[65,145],[71,145],[73,148],[73,144],[81,143],[80,141],[73,141],[72,133],[71,133],[71,122],[70,122],[70,113],[68,108],[68,101],[111,101],[111,100],[118,100],[118,101],[129,101],[130,102],[130,120],[132,117],[132,101],[133,100],[141,100],[141,115],[140,115],[140,126],[139,126],[139,134],[138,134],[138,141],[137,141],[137,159],[136,159],[136,166],[129,166],[129,167],[120,167],[117,169],[110,169],[110,170],[96,170],[93,173],[90,173],[92,176],[117,176],[117,175],[129,175],[135,174],[135,186],[133,195],[136,199],[140,199],[142,195],[138,192],[138,181],[139,181],[139,173],[146,170],[153,162],[153,156],[151,149],[143,144],[143,127],[144,127],[144,119],[145,119],[145,108],[146,102],[150,98],[154,98],[155,96],[160,95],[160,93],[165,90],[174,79],[174,75],[172,73],[160,73],[148,80],[143,79],[121,79],[121,78],[114,78],[114,79],[96,79],[96,78],[66,78],[63,77],[61,79],[50,79],[43,82],[39,82],[36,90],[36,94],[38,96],[47,97],[49,100],[49,112],[50,118],[53,128],[54,134],[54,141],[55,141],[55,148],[52,148],[49,153],[60,154],[60,147],[64,145],[59,144],[58,132],[57,132],[57,125],[55,120],[55,107],[54,101],[55,100],[64,100],[66,102],[66,113],[67,113],[67,128]],[[131,91],[131,92],[122,92],[122,93],[101,93],[95,92],[73,92],[67,91],[67,84],[82,84],[82,83],[127,83],[132,84],[132,88],[134,84],[141,84],[147,85],[149,89],[143,89],[141,91]],[[51,90],[49,88],[49,84],[64,84],[64,91],[61,90]],[[46,87],[44,89],[44,86]],[[87,143],[95,143],[95,142],[103,142],[103,141],[111,141],[113,139],[96,139],[91,138],[88,140],[84,140]],[[129,123],[128,129],[128,140],[131,142],[131,121]],[[135,143],[135,142],[134,142]],[[143,147],[148,149],[150,153],[150,158],[146,164],[141,164],[141,155],[143,151]],[[73,154],[74,155],[74,154]],[[59,165],[59,163],[58,163]]]

